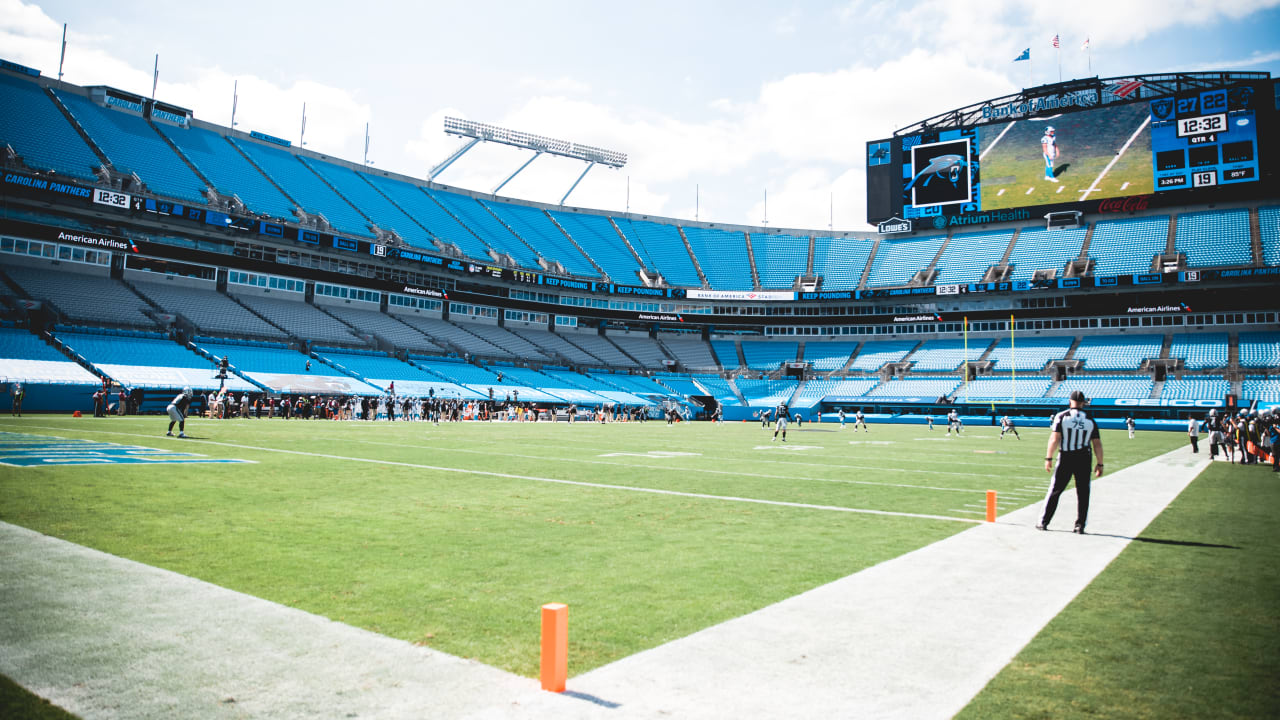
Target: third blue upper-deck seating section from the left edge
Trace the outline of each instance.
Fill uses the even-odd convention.
[[[218,192],[239,197],[252,213],[289,222],[297,219],[293,217],[293,201],[276,190],[221,135],[200,127],[180,128],[166,123],[156,123],[156,128],[214,183]]]

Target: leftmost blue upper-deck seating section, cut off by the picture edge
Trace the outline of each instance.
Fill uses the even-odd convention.
[[[13,147],[28,168],[93,179],[102,161],[44,88],[0,72],[0,146]]]

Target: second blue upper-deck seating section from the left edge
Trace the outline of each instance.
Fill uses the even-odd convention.
[[[137,174],[157,195],[204,205],[205,182],[141,115],[102,108],[70,92],[54,92],[116,170]]]

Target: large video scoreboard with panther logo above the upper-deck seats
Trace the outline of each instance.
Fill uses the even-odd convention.
[[[1193,202],[1194,192],[1256,184],[1270,100],[1254,85],[1102,106],[1064,97],[1059,108],[995,105],[983,110],[989,122],[870,142],[868,220],[943,228],[1096,211],[1121,197]]]

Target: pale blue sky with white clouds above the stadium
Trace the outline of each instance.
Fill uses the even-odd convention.
[[[1070,9],[1066,13],[1065,9]],[[1280,73],[1280,0],[283,3],[0,0],[0,58],[150,94],[239,129],[425,177],[445,115],[626,152],[568,204],[863,229],[864,143],[1062,77]],[[1088,37],[1091,54],[1080,51]],[[436,179],[488,192],[527,159],[480,146]],[[582,170],[540,158],[503,195],[557,202]],[[628,192],[630,187],[630,192]]]

